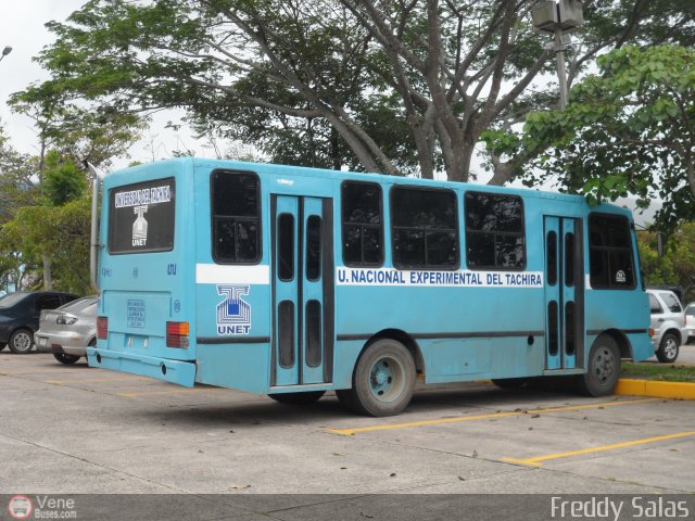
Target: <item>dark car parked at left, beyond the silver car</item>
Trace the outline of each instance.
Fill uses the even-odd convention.
[[[39,329],[43,309],[55,309],[77,298],[77,295],[56,291],[29,293],[17,291],[0,300],[0,350],[10,346],[12,353],[31,351],[34,332]]]

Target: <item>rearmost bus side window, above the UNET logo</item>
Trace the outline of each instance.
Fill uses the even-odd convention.
[[[255,174],[212,174],[213,258],[219,264],[261,259],[261,204]]]

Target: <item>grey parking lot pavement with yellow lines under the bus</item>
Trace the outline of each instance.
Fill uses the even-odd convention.
[[[695,404],[419,391],[399,417],[0,353],[0,493],[693,493]]]

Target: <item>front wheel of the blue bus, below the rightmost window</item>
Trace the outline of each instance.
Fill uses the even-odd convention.
[[[589,367],[577,379],[579,391],[587,396],[612,394],[620,378],[620,350],[607,334],[599,335],[589,352]]]

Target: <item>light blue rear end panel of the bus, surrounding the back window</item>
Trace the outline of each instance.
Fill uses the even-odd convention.
[[[104,180],[104,204],[99,259],[101,298],[100,315],[109,317],[109,336],[98,340],[99,350],[113,356],[123,353],[167,360],[195,360],[195,343],[188,347],[166,346],[167,322],[185,321],[190,336],[195,335],[195,295],[191,291],[194,280],[193,249],[187,247],[195,238],[194,208],[186,198],[193,191],[191,163],[162,162],[113,174]],[[146,181],[173,179],[175,205],[174,244],[170,251],[154,253],[112,254],[109,238],[111,193],[123,187],[139,186]],[[164,181],[163,181],[164,182]],[[143,214],[144,217],[148,214]],[[154,233],[149,224],[148,233]],[[135,231],[134,231],[135,241]],[[92,358],[89,358],[90,361]],[[131,360],[131,358],[128,358]],[[128,367],[132,367],[129,363]]]

